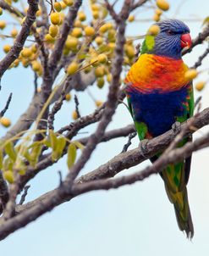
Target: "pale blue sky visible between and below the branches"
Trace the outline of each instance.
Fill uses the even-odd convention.
[[[118,1],[122,3],[122,0]],[[190,26],[191,36],[194,38],[201,31],[202,20],[208,15],[209,2],[205,0],[170,0],[171,10],[167,18],[199,19],[199,21],[185,21]],[[178,8],[181,5],[181,8]],[[178,9],[178,13],[176,10]],[[137,11],[139,19],[150,17],[150,11]],[[151,25],[149,22],[139,20],[128,25],[127,36],[143,35]],[[3,45],[3,42],[0,42]],[[193,65],[198,56],[204,52],[206,43],[196,47],[194,51],[184,57],[189,66]],[[3,53],[1,58],[3,57]],[[201,70],[208,69],[209,61],[206,58]],[[196,81],[206,79],[206,72]],[[14,97],[7,116],[15,122],[19,114],[25,111],[33,93],[33,77],[28,70],[14,69],[3,76],[2,91],[0,92],[0,109],[8,97],[9,92],[14,92]],[[95,97],[104,100],[105,95],[96,89],[90,88]],[[195,92],[195,97],[202,95],[202,109],[209,104],[209,87],[203,92]],[[88,95],[78,93],[81,114],[91,113],[94,103]],[[70,122],[73,103],[65,103],[61,114],[58,114],[56,127]],[[128,111],[120,105],[113,122],[108,130],[128,125],[132,120]],[[91,132],[95,125],[86,128]],[[202,129],[195,134],[201,136],[208,130]],[[0,128],[0,136],[5,129]],[[80,135],[82,136],[82,135]],[[94,170],[101,164],[112,159],[121,152],[126,138],[116,139],[108,143],[101,143],[82,174]],[[135,138],[130,148],[137,147]],[[0,252],[3,256],[176,256],[176,255],[201,255],[209,253],[209,172],[208,149],[194,153],[188,185],[190,210],[195,226],[195,236],[192,241],[186,239],[183,232],[179,231],[175,220],[173,205],[168,202],[163,182],[159,175],[151,175],[146,181],[137,182],[131,186],[123,186],[108,192],[89,192],[74,198],[69,203],[63,203],[52,212],[44,214],[16,231],[0,242]],[[124,170],[122,175],[135,170],[142,170],[149,161],[142,163],[130,170]],[[27,201],[30,201],[43,192],[58,186],[58,170],[63,175],[67,173],[66,159],[62,159],[55,166],[41,172],[33,181],[30,181],[30,190]]]

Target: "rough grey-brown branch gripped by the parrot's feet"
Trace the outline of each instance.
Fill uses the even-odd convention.
[[[193,128],[195,127],[196,130],[201,129],[201,127],[209,124],[209,108],[203,110],[198,116],[195,117],[194,121],[192,122]],[[195,132],[196,130],[190,130],[190,127],[187,126],[187,122],[182,125],[182,129],[185,129],[185,136],[190,135],[191,133]],[[106,178],[111,178],[117,175],[119,172],[125,169],[129,169],[137,164],[140,164],[146,159],[150,159],[159,151],[163,151],[165,148],[168,147],[170,142],[173,141],[176,134],[173,130],[167,131],[166,133],[162,134],[161,136],[157,136],[151,139],[146,145],[146,157],[143,152],[141,152],[140,147],[135,149],[129,150],[125,153],[120,153],[113,159],[109,160],[106,164],[102,164],[96,170],[93,170],[86,175],[81,176],[76,182],[77,183],[84,183],[88,181],[95,181],[101,180]],[[21,212],[25,209],[29,209],[36,205],[36,203],[45,201],[48,199],[49,196],[56,194],[58,192],[58,188],[52,190],[51,192],[47,192],[46,194],[42,195],[40,198],[36,200],[26,203],[21,207],[17,207],[17,212]],[[69,201],[72,195],[69,195],[67,198],[63,198],[62,201],[57,202],[58,204]]]

